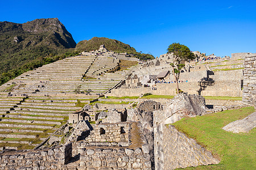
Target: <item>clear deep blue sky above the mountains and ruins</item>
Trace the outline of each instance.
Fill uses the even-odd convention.
[[[76,42],[116,39],[154,57],[180,42],[217,56],[256,53],[256,1],[2,1],[0,21],[59,18]]]

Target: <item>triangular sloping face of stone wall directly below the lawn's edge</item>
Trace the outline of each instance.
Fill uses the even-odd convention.
[[[164,159],[158,169],[196,167],[220,162],[195,140],[177,131],[174,126],[164,126],[163,136]]]

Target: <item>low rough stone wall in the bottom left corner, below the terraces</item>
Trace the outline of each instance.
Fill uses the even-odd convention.
[[[0,169],[61,169],[72,155],[72,144],[48,150],[3,151]]]

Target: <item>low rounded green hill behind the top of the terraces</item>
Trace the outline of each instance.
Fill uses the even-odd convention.
[[[102,44],[105,45],[106,49],[113,51],[115,53],[129,53],[132,54],[133,57],[143,60],[154,59],[154,57],[151,54],[138,53],[130,45],[118,40],[108,39],[106,37],[93,37],[90,40],[80,41],[76,45],[76,50],[90,52],[92,50],[97,50],[98,47]]]

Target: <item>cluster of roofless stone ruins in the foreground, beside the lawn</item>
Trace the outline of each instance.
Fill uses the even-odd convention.
[[[97,124],[80,120],[64,146],[30,154],[4,151],[0,163],[14,169],[175,169],[215,164],[219,160],[193,139],[165,126],[174,114],[204,114],[204,104],[199,95],[180,94],[167,104],[147,100],[137,108],[110,109]],[[175,113],[169,112],[171,108]]]

